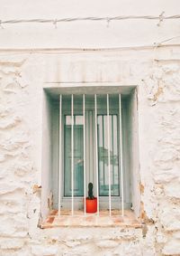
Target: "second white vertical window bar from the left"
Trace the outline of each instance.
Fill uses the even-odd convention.
[[[74,98],[71,94],[71,213],[74,214]]]

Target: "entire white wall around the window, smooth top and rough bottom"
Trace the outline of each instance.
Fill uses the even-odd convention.
[[[0,1],[0,19],[177,14],[178,1]],[[0,30],[1,255],[179,255],[180,46],[103,52],[60,48],[152,45],[179,35],[179,20],[4,25]],[[33,48],[33,52],[31,52]],[[49,50],[40,50],[49,48]],[[54,50],[52,48],[59,48]],[[19,49],[19,50],[17,50]],[[39,49],[39,50],[36,50]],[[9,51],[11,50],[11,51]],[[138,85],[142,229],[41,230],[43,87],[46,82]],[[60,84],[58,84],[60,86]],[[48,103],[47,103],[48,104]],[[49,130],[47,129],[47,132]],[[137,139],[135,137],[134,139]],[[45,153],[46,154],[46,153]],[[48,154],[48,153],[47,153]],[[47,161],[47,158],[46,158]],[[137,167],[138,168],[138,167]],[[137,188],[136,188],[137,189]],[[43,192],[42,192],[43,193]],[[45,195],[46,196],[46,195]]]

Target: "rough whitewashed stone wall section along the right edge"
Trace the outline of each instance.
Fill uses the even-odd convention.
[[[149,82],[148,82],[149,81]],[[178,255],[180,241],[170,238],[179,231],[180,194],[180,65],[159,62],[155,64],[146,85],[148,99],[154,108],[152,133],[157,133],[151,166],[157,217],[157,251],[165,255]]]

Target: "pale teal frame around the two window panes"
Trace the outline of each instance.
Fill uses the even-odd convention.
[[[75,96],[75,99],[76,99],[76,96]],[[99,103],[100,105],[101,103]],[[68,105],[70,107],[70,102],[68,102]],[[91,104],[90,104],[91,105]],[[65,128],[65,117],[66,116],[69,116],[71,115],[71,111],[70,111],[70,108],[67,109],[65,108],[66,110],[63,110],[62,111],[62,119],[63,119],[63,125],[62,125],[62,128],[63,128],[63,167],[62,167],[62,181],[63,181],[63,184],[61,184],[62,186],[62,208],[68,208],[70,207],[70,200],[71,200],[71,194],[70,194],[70,191],[69,193],[66,195],[65,194],[65,148],[66,147],[66,142],[64,140],[64,134],[65,134],[65,131],[64,131],[64,128]],[[90,114],[86,114],[87,112],[89,112]],[[110,108],[110,116],[114,114],[114,115],[119,115],[119,112],[118,112],[118,108],[115,108],[115,109],[112,109]],[[77,116],[77,115],[83,115],[83,112],[82,112],[82,106],[81,108],[79,108],[79,106],[76,107],[75,105],[75,109],[74,109],[74,116]],[[103,104],[103,107],[100,107],[98,106],[98,113],[97,113],[97,117],[98,116],[104,116],[104,115],[107,115],[106,113],[106,106],[105,104]],[[91,117],[90,117],[91,116]],[[119,124],[119,116],[118,116],[118,124]],[[85,109],[85,122],[86,122],[86,129],[90,129],[89,131],[86,131],[88,133],[87,137],[93,137],[93,139],[90,139],[92,140],[92,144],[93,144],[93,148],[94,148],[94,104],[93,104],[93,108],[92,107],[87,107],[87,109]],[[89,127],[89,124],[91,123],[91,128]],[[119,126],[117,128],[117,130],[119,131]],[[118,136],[118,140],[119,140],[119,136]],[[87,147],[90,145],[88,145],[88,142],[86,141],[85,143],[86,145],[86,149]],[[87,146],[88,145],[88,146]],[[118,146],[119,147],[119,146]],[[95,167],[94,167],[94,159],[92,160],[92,163],[91,162],[91,159],[87,159],[87,155],[91,155],[91,153],[89,153],[88,151],[89,150],[86,150],[87,153],[86,153],[86,163],[88,165],[88,167],[86,168],[86,187],[88,185],[89,182],[93,182],[94,183],[94,195],[96,195],[96,192],[95,192],[95,189],[96,189],[96,180],[95,180]],[[92,150],[92,148],[90,149],[91,152],[94,152],[94,149]],[[93,153],[94,155],[94,153]],[[119,152],[118,152],[118,155],[119,155]],[[94,158],[95,156],[93,156]],[[118,163],[120,163],[120,156],[118,156]],[[89,160],[89,161],[88,161]],[[93,170],[93,171],[92,171]],[[120,201],[121,201],[121,189],[120,189],[120,166],[118,168],[118,175],[119,175],[119,194],[118,195],[112,195],[111,198],[112,198],[112,208],[119,208],[119,204],[120,204]],[[83,178],[82,178],[83,180]],[[100,182],[100,181],[99,181]],[[87,195],[87,189],[86,189],[86,195]],[[74,194],[74,201],[75,201],[75,209],[76,208],[81,208],[83,207],[83,197],[84,197],[84,194],[82,195],[76,195]],[[100,189],[99,189],[99,200],[100,200],[100,208],[108,208],[108,194],[106,195],[102,195],[100,194]]]

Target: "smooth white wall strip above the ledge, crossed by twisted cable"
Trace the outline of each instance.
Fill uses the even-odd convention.
[[[178,0],[28,1],[1,0],[0,19],[60,19],[71,17],[112,17],[121,15],[175,15]],[[58,24],[3,24],[0,48],[100,48],[152,45],[179,36],[178,20],[122,20]],[[87,33],[88,31],[88,33]],[[21,37],[21,40],[20,40]],[[50,40],[49,40],[50,39]],[[179,38],[176,39],[179,42]],[[173,43],[177,41],[174,40]],[[172,42],[168,42],[172,43]]]

